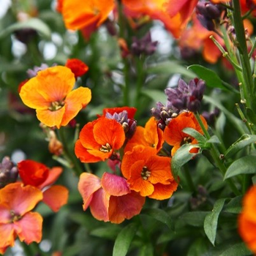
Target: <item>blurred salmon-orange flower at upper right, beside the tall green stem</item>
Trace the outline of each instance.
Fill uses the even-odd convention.
[[[219,37],[214,31],[208,31],[204,28],[197,18],[192,19],[193,25],[182,32],[178,41],[178,45],[181,49],[189,48],[192,50],[202,50],[203,59],[211,64],[214,64],[222,56],[222,52],[217,48],[212,39],[209,37],[212,35],[224,46],[224,40]]]

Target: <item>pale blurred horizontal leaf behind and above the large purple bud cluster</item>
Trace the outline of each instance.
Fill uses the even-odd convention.
[[[149,66],[146,69],[148,74],[181,74],[187,78],[195,78],[195,73],[188,70],[184,65],[178,64],[177,61],[165,61]]]

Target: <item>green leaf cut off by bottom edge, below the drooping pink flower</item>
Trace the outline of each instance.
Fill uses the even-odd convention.
[[[130,223],[126,227],[124,227],[116,238],[114,248],[113,248],[113,256],[125,256],[127,255],[130,244],[132,243],[132,239],[135,236],[135,233],[138,230],[138,225],[135,223]]]

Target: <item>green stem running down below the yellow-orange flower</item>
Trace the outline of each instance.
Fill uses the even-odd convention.
[[[67,159],[68,162],[72,162],[72,169],[75,171],[77,176],[80,176],[80,174],[83,173],[83,170],[80,167],[78,159],[76,159],[75,155],[71,151],[69,151],[66,136],[64,134],[64,128],[59,129],[59,137],[61,138],[61,143],[63,144],[64,157]]]

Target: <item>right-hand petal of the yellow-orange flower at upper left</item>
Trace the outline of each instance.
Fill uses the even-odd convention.
[[[61,121],[61,126],[66,126],[78,112],[85,108],[91,101],[91,90],[85,87],[79,87],[71,91],[65,99],[65,113]]]

